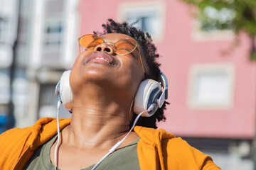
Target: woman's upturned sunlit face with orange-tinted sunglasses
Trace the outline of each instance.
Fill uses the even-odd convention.
[[[97,45],[93,50],[81,52],[75,60],[70,74],[73,94],[77,94],[78,89],[86,84],[96,83],[105,86],[113,93],[134,97],[140,82],[144,79],[142,63],[145,71],[149,69],[144,56],[142,54],[139,56],[139,46],[127,55],[117,55],[113,44],[131,37],[110,33],[102,35],[102,38],[105,43]]]

